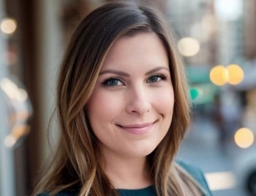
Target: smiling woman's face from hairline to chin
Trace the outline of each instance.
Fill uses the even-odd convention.
[[[167,52],[158,36],[117,39],[87,105],[104,157],[150,154],[171,125],[173,103]]]

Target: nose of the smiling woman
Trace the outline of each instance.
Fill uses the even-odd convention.
[[[127,93],[126,110],[129,114],[143,115],[150,111],[150,95],[144,88],[134,88]]]

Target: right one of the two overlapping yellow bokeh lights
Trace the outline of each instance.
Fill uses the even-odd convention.
[[[228,70],[229,84],[236,85],[242,82],[242,80],[244,79],[244,71],[239,65],[235,65],[235,64],[228,65],[226,69]]]

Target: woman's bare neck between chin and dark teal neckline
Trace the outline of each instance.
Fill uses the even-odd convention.
[[[102,169],[116,189],[140,189],[154,183],[146,157],[108,156],[102,163]]]

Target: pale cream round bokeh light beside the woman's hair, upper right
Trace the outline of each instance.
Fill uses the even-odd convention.
[[[178,42],[178,49],[183,56],[194,56],[200,50],[200,43],[192,37],[184,37]]]

